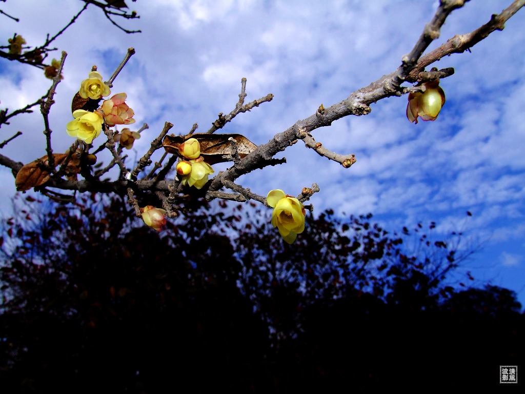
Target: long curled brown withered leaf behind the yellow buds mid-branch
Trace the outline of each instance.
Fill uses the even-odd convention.
[[[232,143],[228,140],[233,138],[236,142],[239,156],[244,158],[249,153],[257,149],[257,145],[241,134],[208,134],[196,133],[187,136],[166,136],[162,141],[162,146],[168,153],[180,155],[178,147],[184,141],[195,138],[201,144],[201,155],[208,164],[222,163],[232,160],[228,156],[235,154]]]

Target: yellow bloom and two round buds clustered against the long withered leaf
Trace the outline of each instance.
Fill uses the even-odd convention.
[[[181,143],[178,147],[180,154],[188,160],[181,160],[177,163],[177,174],[182,176],[183,185],[195,186],[197,189],[208,181],[208,175],[213,174],[213,168],[204,162],[201,156],[201,144],[195,138],[190,138]]]

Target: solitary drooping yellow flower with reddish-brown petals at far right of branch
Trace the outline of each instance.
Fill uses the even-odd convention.
[[[441,107],[445,104],[445,92],[439,86],[439,81],[426,82],[424,92],[415,92],[408,95],[406,117],[416,122],[419,116],[423,120],[436,120]]]

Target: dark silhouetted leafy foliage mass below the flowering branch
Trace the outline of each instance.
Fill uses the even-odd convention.
[[[2,236],[6,392],[486,388],[523,357],[516,295],[455,289],[470,251],[421,224],[326,211],[288,245],[243,205],[162,233],[119,199],[28,205]]]

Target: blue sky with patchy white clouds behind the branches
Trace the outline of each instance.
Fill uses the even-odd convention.
[[[298,119],[312,115],[384,74],[395,70],[432,18],[433,0],[269,1],[127,0],[140,19],[124,21],[141,34],[117,29],[96,7],[88,7],[55,45],[68,53],[65,79],[51,110],[53,148],[73,142],[65,132],[70,102],[92,65],[109,78],[128,47],[137,54],[119,75],[113,93],[125,91],[139,125],[149,130],[130,157],[141,155],[165,121],[175,133],[197,122],[206,131],[218,112],[235,106],[246,77],[247,101],[268,93],[275,98],[239,115],[224,132],[265,143]],[[433,49],[455,34],[486,23],[511,0],[469,2],[447,19]],[[57,8],[57,4],[60,7]],[[0,33],[19,33],[40,45],[82,7],[77,0],[7,0]],[[26,10],[31,7],[31,15]],[[464,263],[476,283],[489,281],[518,293],[525,304],[525,11],[472,48],[439,61],[454,67],[444,79],[446,104],[435,122],[409,123],[407,98],[372,105],[365,117],[347,117],[313,137],[338,153],[356,155],[350,169],[319,157],[302,143],[281,154],[288,163],[245,175],[238,183],[266,195],[283,189],[297,195],[317,182],[311,202],[319,213],[372,212],[387,229],[438,223],[437,234],[464,230],[464,245],[483,248]],[[55,57],[59,58],[59,51]],[[20,108],[45,94],[50,81],[41,70],[0,59],[0,108]],[[0,140],[24,135],[3,154],[28,162],[45,154],[39,113],[19,116],[2,127]],[[217,168],[220,170],[220,167]],[[0,170],[4,201],[14,180]],[[8,212],[8,205],[2,210]],[[466,220],[466,211],[472,216]],[[438,235],[436,235],[438,236]]]

